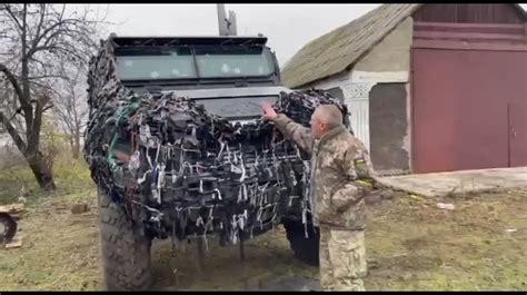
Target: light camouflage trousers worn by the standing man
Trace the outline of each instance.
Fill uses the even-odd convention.
[[[320,226],[320,286],[324,291],[365,291],[364,230]]]

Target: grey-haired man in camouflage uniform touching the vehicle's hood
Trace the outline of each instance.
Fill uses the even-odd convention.
[[[342,125],[332,105],[319,106],[311,129],[277,114],[264,102],[270,120],[290,140],[311,154],[311,209],[320,230],[320,286],[326,291],[365,291],[365,196],[374,179],[368,151]]]

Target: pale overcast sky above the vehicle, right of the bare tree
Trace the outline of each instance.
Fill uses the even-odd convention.
[[[284,65],[304,45],[379,4],[226,4],[239,36],[268,37]],[[527,9],[527,4],[521,4]],[[216,4],[110,4],[110,31],[118,36],[217,36]]]

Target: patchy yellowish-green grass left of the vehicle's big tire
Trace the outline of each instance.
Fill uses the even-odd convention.
[[[19,222],[19,249],[0,249],[0,289],[93,289],[100,282],[97,210],[93,183],[82,160],[58,159],[53,167],[57,190],[39,189],[32,171],[17,166],[0,173],[0,204],[27,199]],[[23,193],[21,193],[23,191]],[[71,215],[79,200],[91,212]]]

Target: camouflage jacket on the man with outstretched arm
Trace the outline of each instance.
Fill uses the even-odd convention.
[[[275,126],[311,155],[310,199],[316,226],[361,230],[366,227],[364,197],[371,186],[374,170],[365,145],[344,128],[337,127],[320,140],[309,128],[278,115]]]

